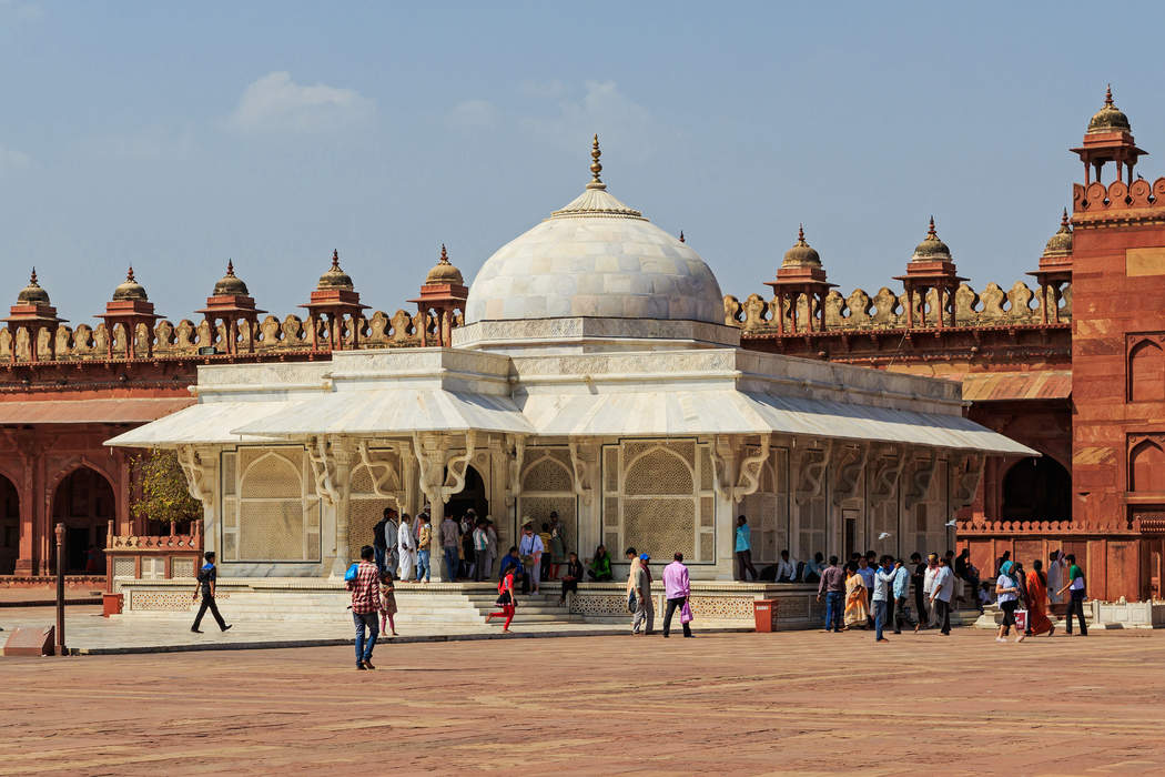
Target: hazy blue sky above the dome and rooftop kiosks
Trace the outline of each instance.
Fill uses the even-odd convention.
[[[130,262],[191,317],[233,257],[261,308],[332,248],[407,306],[439,245],[472,278],[613,193],[726,294],[767,292],[797,224],[848,294],[891,284],[933,213],[982,290],[1036,268],[1113,83],[1165,154],[1162,3],[0,1],[0,305],[36,264],[59,315]],[[1150,156],[1146,178],[1165,174]],[[5,290],[6,289],[6,290]]]

